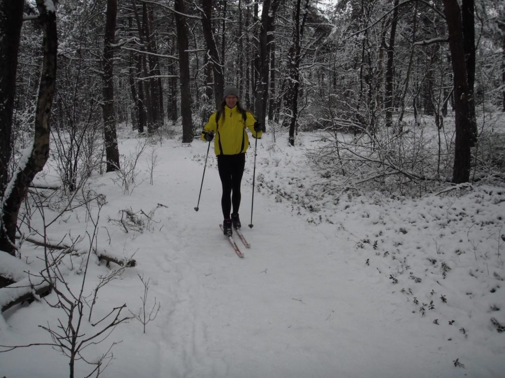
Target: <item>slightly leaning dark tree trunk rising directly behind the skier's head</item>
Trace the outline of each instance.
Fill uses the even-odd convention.
[[[222,68],[222,60],[219,57],[219,52],[212,32],[212,0],[203,0],[204,16],[201,18],[201,25],[204,31],[205,42],[207,44],[208,55],[211,61],[212,72],[214,74],[214,100],[216,107],[223,102],[224,90],[224,75]],[[179,33],[179,30],[177,30]]]

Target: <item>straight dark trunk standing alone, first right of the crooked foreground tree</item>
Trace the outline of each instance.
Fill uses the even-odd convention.
[[[107,0],[104,43],[104,141],[107,172],[119,169],[119,150],[116,135],[116,112],[114,110],[114,47],[118,1]]]

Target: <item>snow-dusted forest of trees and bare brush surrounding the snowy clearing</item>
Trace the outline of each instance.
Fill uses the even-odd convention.
[[[82,310],[55,284],[77,241],[54,243],[47,228],[77,208],[95,221],[90,203],[105,201],[87,189],[91,177],[115,172],[131,193],[143,150],[125,159],[118,130],[199,143],[230,84],[283,148],[318,133],[307,158],[328,196],[418,198],[505,181],[500,0],[0,0],[0,51],[0,253],[19,257],[24,242],[52,250],[2,311],[51,291],[69,319]],[[57,183],[36,183],[49,160]],[[94,227],[99,260],[135,266],[99,252]],[[1,288],[23,277],[0,266]],[[104,331],[125,321],[122,309]]]

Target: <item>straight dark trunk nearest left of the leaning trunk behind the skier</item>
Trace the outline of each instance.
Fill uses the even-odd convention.
[[[188,28],[184,20],[185,6],[184,0],[174,1],[175,23],[177,25],[177,42],[179,46],[179,77],[181,90],[181,116],[182,116],[182,142],[191,143],[193,141],[193,127],[191,117],[191,92],[189,77],[189,56],[188,56]]]

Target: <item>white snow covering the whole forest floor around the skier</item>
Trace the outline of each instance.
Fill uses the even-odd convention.
[[[99,376],[502,376],[505,334],[491,319],[505,325],[504,188],[462,186],[417,199],[378,192],[329,198],[318,185],[321,173],[306,158],[319,139],[300,133],[296,146],[288,147],[287,135],[277,132],[276,138],[274,143],[267,133],[258,143],[252,217],[254,154],[247,153],[240,215],[251,247],[242,247],[244,259],[218,227],[221,184],[214,156],[194,211],[206,143],[154,143],[138,160],[129,195],[114,183],[115,173],[93,178],[93,190],[106,196],[99,249],[133,256],[137,265],[100,288],[92,320],[124,303],[138,314],[144,294],[139,277],[149,280],[147,311],[161,304],[145,334],[131,319],[84,350],[96,361],[117,343]],[[136,151],[139,139],[122,137],[120,152]],[[46,222],[56,208],[44,210]],[[120,222],[124,210],[137,220],[128,232]],[[34,213],[31,225],[39,218]],[[75,240],[93,228],[80,208],[47,233],[70,245],[70,235]],[[25,242],[21,254],[34,271],[41,269],[41,247]],[[66,259],[62,272],[78,292],[85,253]],[[92,257],[84,294],[114,269]],[[47,297],[55,299],[54,293]],[[50,343],[40,326],[56,329],[65,319],[44,301],[3,315],[2,345]],[[87,313],[85,319],[83,332],[96,332]],[[92,369],[82,360],[76,367],[76,376]],[[66,376],[68,358],[49,346],[15,349],[0,353],[4,375]]]

